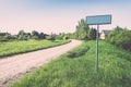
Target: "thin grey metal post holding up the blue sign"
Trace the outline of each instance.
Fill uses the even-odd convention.
[[[97,25],[97,29],[96,29],[96,72],[98,72],[98,32],[99,32],[99,25]]]

